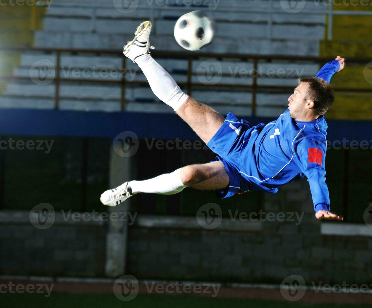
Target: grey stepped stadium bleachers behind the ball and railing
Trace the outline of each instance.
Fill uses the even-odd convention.
[[[214,43],[202,49],[202,53],[318,56],[319,41],[324,35],[325,15],[321,13],[318,15],[307,13],[284,15],[279,1],[221,1],[218,12],[214,12],[212,1],[209,7],[166,5],[165,2],[162,5],[161,3],[163,2],[140,1],[134,13],[124,14],[115,8],[111,0],[55,0],[43,18],[42,30],[34,33],[34,45],[37,48],[120,51],[123,44],[131,39],[136,26],[144,19],[150,19],[154,24],[152,45],[158,50],[183,51],[173,38],[173,25],[179,16],[198,8],[205,10],[217,24]],[[319,11],[319,7],[307,7],[307,10],[312,9]],[[207,59],[200,58],[193,61],[192,83],[201,82],[198,77],[199,65]],[[244,74],[241,78],[236,78],[239,72],[251,70],[253,62],[224,58],[218,61],[222,66],[220,83],[231,85],[253,83],[253,78]],[[31,77],[31,80],[10,81],[0,98],[1,108],[54,108],[55,83],[41,86],[33,82],[37,78],[35,76],[37,70],[31,69],[35,67],[35,62],[38,67],[47,65],[50,76],[55,76],[55,54],[42,51],[23,53],[19,67],[14,70],[14,76]],[[177,82],[187,81],[187,59],[161,58],[158,62],[171,73]],[[50,63],[53,64],[50,65]],[[121,72],[121,63],[120,53],[118,56],[62,53],[60,78],[80,79],[81,73],[74,74],[74,72],[84,70],[84,78],[98,77],[104,80],[119,81],[118,72]],[[135,81],[146,81],[136,64],[131,61],[126,63],[129,70],[126,73],[127,80],[133,78],[135,74]],[[316,63],[293,61],[259,61],[258,65],[263,71],[268,68],[273,69],[275,74],[267,76],[263,73],[264,78],[258,78],[257,84],[294,87],[298,77],[313,75],[319,68]],[[293,70],[292,78],[280,78],[277,74],[280,69],[286,70],[286,73]],[[102,77],[102,72],[106,70],[111,70],[116,74],[111,73]],[[101,71],[101,74],[98,76],[96,74],[94,77],[94,71]],[[119,84],[62,81],[59,108],[62,110],[119,111],[120,93]],[[193,89],[192,96],[222,113],[232,111],[241,115],[251,114],[252,95],[249,89],[201,87]],[[278,115],[286,108],[287,99],[288,94],[282,92],[258,93],[256,115]],[[167,106],[158,102],[148,86],[127,85],[125,100],[128,111],[172,112]]]

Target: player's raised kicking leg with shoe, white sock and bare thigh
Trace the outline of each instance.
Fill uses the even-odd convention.
[[[224,123],[223,116],[183,93],[169,73],[151,57],[150,31],[151,23],[142,23],[138,27],[135,39],[124,47],[124,54],[138,64],[154,94],[171,106],[207,143]]]

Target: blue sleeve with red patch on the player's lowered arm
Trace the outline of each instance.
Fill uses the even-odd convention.
[[[330,210],[330,199],[325,183],[325,153],[327,145],[324,140],[302,138],[296,146],[296,161],[308,179],[314,211]]]

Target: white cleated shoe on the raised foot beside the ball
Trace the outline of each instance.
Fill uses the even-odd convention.
[[[137,31],[134,32],[135,37],[133,41],[128,42],[124,46],[123,54],[135,62],[135,59],[144,54],[150,54],[150,49],[154,49],[150,45],[150,32],[151,32],[151,22],[145,21],[137,27]]]

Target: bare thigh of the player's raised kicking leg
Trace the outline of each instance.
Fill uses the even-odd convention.
[[[225,118],[216,110],[196,102],[191,97],[186,100],[176,113],[190,125],[205,143],[211,140],[225,121]]]

